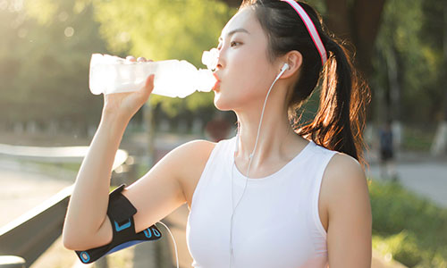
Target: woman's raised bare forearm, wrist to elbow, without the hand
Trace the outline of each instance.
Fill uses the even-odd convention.
[[[99,246],[104,242],[96,239],[97,232],[105,222],[114,156],[126,125],[112,116],[103,116],[99,123],[80,165],[65,217],[63,244],[67,248]]]

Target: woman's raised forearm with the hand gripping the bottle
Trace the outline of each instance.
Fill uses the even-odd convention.
[[[114,156],[131,117],[148,101],[154,88],[150,75],[143,88],[104,96],[104,107],[89,152],[80,165],[63,225],[67,248],[98,246],[107,238],[107,211]]]

